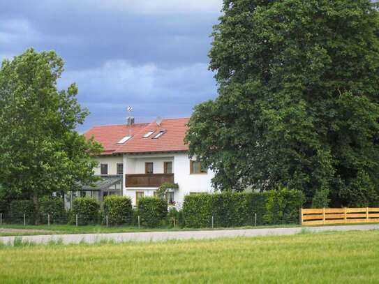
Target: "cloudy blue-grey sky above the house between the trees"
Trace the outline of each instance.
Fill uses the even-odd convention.
[[[94,125],[188,117],[216,97],[207,57],[221,0],[0,1],[0,60],[28,47],[66,62],[59,87],[77,82]]]

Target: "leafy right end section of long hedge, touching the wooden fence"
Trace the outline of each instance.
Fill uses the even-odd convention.
[[[269,225],[299,223],[299,209],[304,204],[304,194],[298,190],[267,191],[267,212],[263,216]]]

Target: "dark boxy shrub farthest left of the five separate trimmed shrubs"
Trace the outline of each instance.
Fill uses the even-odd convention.
[[[27,224],[34,223],[36,213],[34,203],[31,200],[13,200],[10,202],[8,217],[11,223],[23,223],[24,214]]]

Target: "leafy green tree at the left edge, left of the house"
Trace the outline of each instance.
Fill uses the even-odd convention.
[[[94,181],[101,145],[77,133],[88,111],[77,87],[57,89],[64,61],[29,49],[0,69],[0,184],[12,197],[34,200]]]

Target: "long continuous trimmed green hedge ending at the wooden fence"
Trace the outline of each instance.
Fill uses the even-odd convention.
[[[183,215],[186,227],[237,227],[254,224],[298,223],[304,195],[297,190],[269,190],[265,193],[219,193],[187,195]]]

